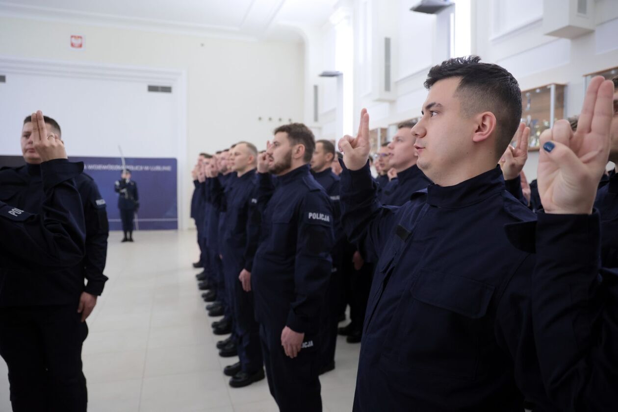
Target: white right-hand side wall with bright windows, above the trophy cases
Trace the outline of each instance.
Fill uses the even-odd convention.
[[[457,2],[468,0],[455,0]],[[565,4],[569,0],[564,0]],[[355,91],[354,124],[362,107],[370,112],[370,127],[388,127],[420,116],[425,100],[423,87],[431,65],[442,61],[448,41],[435,15],[409,11],[415,0],[355,0]],[[468,2],[469,4],[469,2]],[[472,4],[472,54],[485,62],[501,64],[517,78],[523,89],[565,83],[565,116],[578,114],[583,102],[584,74],[618,66],[618,1],[589,0],[595,7],[595,31],[573,40],[546,36],[543,32],[541,0],[475,0]],[[455,14],[457,13],[455,8]],[[323,28],[329,31],[328,25]],[[394,47],[394,91],[379,93],[384,36]],[[371,40],[368,40],[371,39]],[[323,61],[332,59],[332,40],[323,39]],[[455,40],[457,44],[457,40]],[[324,67],[326,69],[326,67]],[[332,113],[320,119],[323,130],[331,130]],[[334,130],[333,130],[334,131]],[[536,177],[538,153],[530,153],[525,172]]]

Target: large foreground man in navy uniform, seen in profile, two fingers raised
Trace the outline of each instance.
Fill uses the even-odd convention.
[[[534,256],[503,229],[535,219],[506,192],[497,166],[514,133],[522,139],[521,92],[507,70],[479,60],[430,70],[412,133],[418,167],[436,184],[403,206],[376,197],[365,110],[357,138],[340,141],[342,222],[351,240],[380,256],[355,411],[520,411],[524,396],[538,410],[557,410],[532,332]]]

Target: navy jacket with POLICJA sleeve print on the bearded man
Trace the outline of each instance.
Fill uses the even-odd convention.
[[[270,330],[315,334],[331,276],[331,202],[308,165],[279,176],[276,189],[271,175],[258,179],[264,211],[251,277],[255,317]]]

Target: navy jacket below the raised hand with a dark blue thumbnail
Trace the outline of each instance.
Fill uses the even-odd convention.
[[[519,247],[536,251],[532,314],[546,391],[561,411],[614,411],[618,270],[601,268],[599,214],[540,212],[530,229]]]

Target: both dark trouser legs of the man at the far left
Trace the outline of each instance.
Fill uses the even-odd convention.
[[[0,354],[9,366],[14,411],[86,411],[82,343],[88,327],[76,305],[0,311]]]

